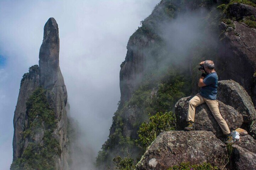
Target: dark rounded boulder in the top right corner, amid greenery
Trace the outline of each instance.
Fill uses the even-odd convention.
[[[232,17],[236,17],[237,19],[240,19],[240,20],[243,19],[243,17],[251,16],[251,15],[256,17],[256,8],[250,5],[233,3],[229,7],[229,14]]]

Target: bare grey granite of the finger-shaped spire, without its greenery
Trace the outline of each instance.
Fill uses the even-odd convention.
[[[69,169],[68,139],[67,139],[67,91],[64,79],[59,67],[59,29],[54,18],[49,18],[44,26],[43,42],[39,52],[38,65],[30,67],[29,73],[24,74],[21,80],[21,88],[17,106],[14,112],[14,138],[13,159],[21,157],[21,154],[29,142],[43,144],[44,125],[37,129],[32,139],[22,139],[22,132],[28,126],[28,115],[26,113],[26,102],[33,91],[42,86],[46,90],[46,97],[53,108],[57,128],[53,136],[59,141],[61,152],[55,156],[56,169]],[[22,140],[23,141],[22,141]]]

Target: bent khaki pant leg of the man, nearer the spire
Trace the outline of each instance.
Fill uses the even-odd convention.
[[[194,122],[196,106],[204,103],[203,97],[198,93],[188,102],[187,122]]]

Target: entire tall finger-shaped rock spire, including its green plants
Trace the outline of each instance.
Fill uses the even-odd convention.
[[[59,67],[59,28],[54,18],[44,26],[39,66],[21,80],[14,112],[11,169],[69,169],[67,91]]]

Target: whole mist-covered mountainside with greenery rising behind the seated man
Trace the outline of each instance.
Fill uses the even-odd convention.
[[[240,83],[255,103],[254,2],[162,0],[155,7],[128,41],[120,65],[121,100],[98,153],[99,167],[113,167],[117,155],[139,159],[139,126],[149,113],[172,111],[181,97],[198,92],[200,61],[213,60],[219,80]],[[245,124],[254,136],[256,123]]]

